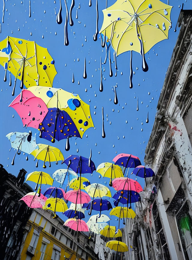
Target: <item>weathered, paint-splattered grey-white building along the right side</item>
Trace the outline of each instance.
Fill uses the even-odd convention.
[[[146,148],[155,172],[128,222],[132,260],[192,259],[192,11],[181,10],[179,36]]]

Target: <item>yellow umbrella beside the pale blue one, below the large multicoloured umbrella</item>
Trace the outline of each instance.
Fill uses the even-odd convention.
[[[35,159],[44,161],[43,168],[46,168],[45,162],[49,162],[50,167],[51,162],[56,162],[57,164],[58,161],[64,161],[64,157],[61,151],[58,148],[47,144],[38,144],[38,148],[33,150],[31,154],[35,157],[34,161]]]

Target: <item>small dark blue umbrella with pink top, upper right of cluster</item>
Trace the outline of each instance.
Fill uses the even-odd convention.
[[[123,175],[125,174],[126,168],[135,168],[141,165],[139,157],[128,153],[118,154],[113,158],[113,162],[115,162],[115,164],[117,165],[124,167]]]

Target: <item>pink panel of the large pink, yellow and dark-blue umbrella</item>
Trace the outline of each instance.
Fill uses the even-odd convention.
[[[38,129],[48,112],[45,102],[36,97],[31,91],[23,89],[9,105],[20,116],[23,125]]]

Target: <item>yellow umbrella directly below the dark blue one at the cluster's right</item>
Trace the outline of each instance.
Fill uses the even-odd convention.
[[[120,224],[120,218],[123,218],[124,225],[125,225],[125,218],[134,218],[136,216],[133,209],[129,209],[127,207],[115,207],[110,211],[110,215],[117,216],[119,218],[119,224]]]

